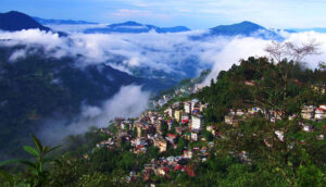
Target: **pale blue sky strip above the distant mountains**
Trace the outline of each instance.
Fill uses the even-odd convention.
[[[0,12],[100,23],[133,20],[192,29],[241,21],[268,28],[306,28],[326,27],[325,9],[326,0],[1,0]]]

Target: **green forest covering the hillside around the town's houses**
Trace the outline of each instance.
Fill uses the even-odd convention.
[[[205,126],[218,132],[205,162],[198,158],[188,161],[196,175],[172,171],[166,176],[141,177],[127,180],[130,171],[137,172],[152,159],[179,154],[185,147],[201,142],[178,139],[177,149],[159,152],[151,146],[147,153],[130,152],[128,142],[114,149],[95,148],[96,144],[111,135],[98,129],[66,138],[62,148],[49,158],[55,161],[43,165],[43,153],[51,153],[34,137],[37,149],[25,150],[36,157],[35,162],[18,161],[26,169],[2,166],[1,184],[14,186],[325,186],[326,184],[326,121],[304,120],[304,105],[326,103],[326,72],[321,64],[316,70],[284,60],[279,63],[266,58],[249,58],[228,71],[220,72],[217,80],[209,87],[179,100],[198,98],[208,108],[203,112]],[[237,125],[225,123],[233,111],[261,108],[277,111],[277,120],[271,121],[262,112],[249,119],[239,119]],[[312,125],[314,130],[303,132],[301,124]],[[174,124],[177,126],[178,124]],[[116,126],[109,127],[112,134]],[[166,129],[165,129],[166,130]],[[173,130],[173,129],[172,129]],[[281,130],[283,138],[275,132]],[[170,132],[173,133],[173,132]],[[323,138],[321,138],[323,136]],[[43,148],[46,150],[43,150]],[[242,157],[239,157],[242,155]],[[129,183],[129,184],[127,184]]]

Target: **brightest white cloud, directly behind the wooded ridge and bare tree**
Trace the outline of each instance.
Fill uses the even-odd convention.
[[[321,61],[326,60],[326,34],[319,34],[315,32],[296,33],[289,34],[281,32],[286,40],[283,42],[292,42],[297,45],[309,43],[311,40],[318,42],[318,55],[308,55],[303,59],[303,63],[309,68],[316,68]],[[267,45],[271,45],[271,40],[263,40],[258,38],[235,38],[227,42],[221,51],[210,55],[215,60],[212,73],[204,80],[204,85],[209,85],[212,78],[216,78],[220,71],[226,71],[231,67],[233,64],[239,64],[240,59],[247,59],[249,57],[267,57],[264,51]],[[268,57],[269,58],[269,57]]]

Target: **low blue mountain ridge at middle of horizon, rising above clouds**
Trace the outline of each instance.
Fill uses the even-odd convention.
[[[190,29],[185,26],[175,26],[175,27],[156,27],[154,25],[146,25],[140,24],[134,21],[128,21],[125,23],[118,23],[118,24],[111,24],[106,27],[102,28],[89,28],[86,29],[84,33],[87,34],[95,34],[95,33],[101,33],[101,34],[109,34],[109,33],[149,33],[151,30],[154,30],[156,33],[180,33],[180,32],[189,32]]]

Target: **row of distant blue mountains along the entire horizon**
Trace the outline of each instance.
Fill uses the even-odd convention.
[[[37,16],[29,16],[27,14],[10,11],[7,13],[0,13],[0,29],[8,32],[16,32],[22,29],[38,28],[40,30],[51,30],[51,28],[43,25],[96,25],[96,22],[86,22],[86,21],[73,21],[73,20],[47,20],[40,18]],[[124,23],[111,24],[104,27],[87,28],[84,30],[86,34],[110,34],[110,33],[148,33],[154,30],[156,33],[180,33],[189,32],[190,28],[186,26],[175,26],[175,27],[158,27],[154,25],[141,24],[134,21],[128,21]],[[209,34],[200,36],[198,38],[206,36],[253,36],[260,37],[263,39],[277,39],[280,40],[281,37],[277,34],[280,29],[268,29],[261,25],[258,25],[252,22],[241,22],[231,25],[220,25],[209,29]],[[317,32],[326,33],[326,28],[316,27],[316,28],[289,28],[283,29],[289,33],[300,33],[300,32]]]

